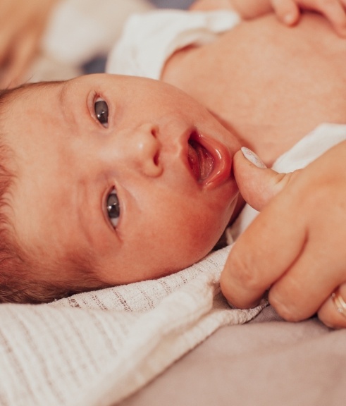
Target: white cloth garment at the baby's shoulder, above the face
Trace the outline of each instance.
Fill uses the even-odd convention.
[[[106,73],[160,79],[164,63],[178,49],[207,44],[240,23],[235,11],[157,10],[128,19],[113,47]]]

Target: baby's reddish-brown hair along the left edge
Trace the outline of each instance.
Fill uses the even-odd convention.
[[[56,82],[40,82],[22,85],[11,90],[0,90],[0,303],[42,303],[51,302],[92,288],[101,287],[101,283],[92,276],[89,259],[73,252],[70,257],[61,259],[61,263],[47,264],[42,261],[44,253],[32,254],[25,247],[20,247],[16,232],[11,224],[11,189],[16,182],[16,154],[6,144],[11,134],[4,133],[8,115],[8,106],[31,88],[54,85]],[[17,111],[18,113],[18,111]],[[29,214],[30,215],[30,214]],[[36,247],[37,248],[37,247]],[[38,250],[39,251],[39,250]],[[68,283],[58,281],[61,269],[70,269]],[[39,275],[43,274],[43,278]],[[44,275],[57,275],[56,281],[44,280]],[[48,281],[49,280],[49,281]],[[105,285],[103,285],[105,286]]]

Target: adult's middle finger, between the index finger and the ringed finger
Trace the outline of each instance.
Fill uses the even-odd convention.
[[[315,314],[335,286],[345,281],[346,254],[342,242],[328,238],[320,223],[309,230],[307,242],[288,272],[273,284],[268,299],[285,320],[300,321]]]

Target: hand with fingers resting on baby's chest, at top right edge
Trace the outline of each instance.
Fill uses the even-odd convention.
[[[194,11],[218,8],[235,10],[244,19],[274,12],[289,26],[298,23],[302,10],[316,11],[330,22],[340,37],[346,37],[346,0],[196,0],[190,6]]]

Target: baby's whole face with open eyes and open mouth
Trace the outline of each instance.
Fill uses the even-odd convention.
[[[204,257],[230,219],[239,144],[169,85],[89,75],[23,90],[6,114],[11,220],[40,262],[78,254],[103,283],[156,278]]]

